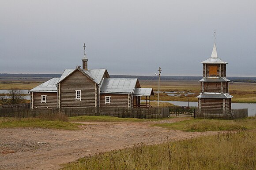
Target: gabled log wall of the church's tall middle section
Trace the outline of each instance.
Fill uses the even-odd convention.
[[[75,101],[75,90],[81,90],[81,101]],[[60,108],[87,107],[95,107],[95,83],[76,70],[60,83]]]

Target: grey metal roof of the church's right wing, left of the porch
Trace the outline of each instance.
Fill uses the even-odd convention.
[[[138,79],[103,79],[100,93],[132,94]]]

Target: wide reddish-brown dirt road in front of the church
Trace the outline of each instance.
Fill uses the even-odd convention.
[[[172,123],[189,119],[163,120]],[[157,144],[218,132],[184,132],[151,127],[156,122],[83,122],[82,130],[41,128],[0,129],[0,169],[58,169],[60,164],[78,158],[131,147],[144,142]],[[159,123],[159,122],[157,122]]]

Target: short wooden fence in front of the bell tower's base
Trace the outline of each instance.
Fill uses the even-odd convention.
[[[248,117],[248,109],[196,109],[195,118],[201,119],[240,119]]]

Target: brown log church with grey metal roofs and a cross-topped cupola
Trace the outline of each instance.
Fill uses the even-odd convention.
[[[152,88],[141,88],[138,79],[110,78],[106,69],[88,69],[85,53],[83,66],[65,69],[60,78],[52,78],[29,90],[31,109],[88,107],[150,107]],[[146,105],[140,103],[146,96]]]

